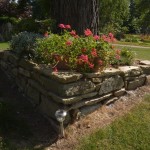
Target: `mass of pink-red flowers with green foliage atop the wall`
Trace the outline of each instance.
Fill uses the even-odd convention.
[[[58,25],[62,33],[49,34],[36,43],[36,61],[51,64],[54,71],[72,69],[80,72],[102,71],[110,64],[121,60],[120,50],[115,50],[110,42],[115,41],[112,33],[94,35],[90,29],[84,36],[77,35],[70,25]],[[61,67],[60,67],[61,66]]]

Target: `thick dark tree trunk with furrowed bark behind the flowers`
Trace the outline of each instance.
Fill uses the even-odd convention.
[[[99,31],[99,0],[53,0],[53,14],[57,24],[70,24],[82,35],[89,28]]]

